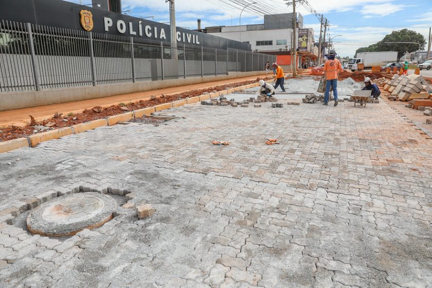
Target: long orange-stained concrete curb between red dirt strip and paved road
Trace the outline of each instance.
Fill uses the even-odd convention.
[[[227,90],[218,91],[215,93],[190,97],[183,100],[177,100],[170,103],[164,103],[152,107],[134,110],[127,113],[106,117],[103,119],[96,119],[93,121],[72,125],[70,127],[50,130],[47,132],[42,132],[42,133],[27,136],[27,138],[17,138],[9,141],[0,142],[0,153],[12,151],[24,147],[35,147],[41,142],[49,141],[52,139],[58,139],[60,137],[71,135],[71,134],[83,133],[85,131],[93,130],[95,128],[106,126],[106,125],[113,126],[118,122],[129,121],[132,118],[141,118],[145,115],[151,115],[153,112],[171,109],[172,107],[179,107],[186,104],[192,104],[206,99],[217,98],[221,95],[226,95],[239,90],[256,87],[258,85],[259,85],[258,83],[243,85],[235,88],[230,88]]]

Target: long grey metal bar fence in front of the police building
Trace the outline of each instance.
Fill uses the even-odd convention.
[[[0,22],[0,92],[260,71],[274,56]]]

